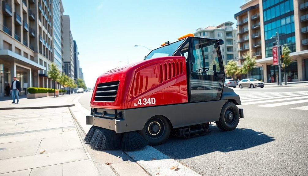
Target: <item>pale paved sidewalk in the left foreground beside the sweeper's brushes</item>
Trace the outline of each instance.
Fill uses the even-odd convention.
[[[0,176],[100,175],[92,163],[67,107],[0,111]]]

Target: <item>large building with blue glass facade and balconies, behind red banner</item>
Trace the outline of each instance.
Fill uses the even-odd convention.
[[[278,65],[273,65],[272,47],[287,44],[292,63],[286,67],[288,81],[308,80],[308,1],[307,0],[246,0],[237,19],[239,62],[249,51],[257,57],[251,77],[277,82]],[[242,38],[242,42],[240,39]],[[261,52],[261,54],[260,54]],[[282,70],[282,78],[284,70]]]

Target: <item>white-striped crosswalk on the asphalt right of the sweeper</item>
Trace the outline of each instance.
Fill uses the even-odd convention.
[[[251,94],[240,94],[240,98],[242,105],[255,105],[260,107],[278,107],[278,106],[298,104],[299,107],[290,109],[308,110],[308,91],[263,92],[263,93],[259,92]]]

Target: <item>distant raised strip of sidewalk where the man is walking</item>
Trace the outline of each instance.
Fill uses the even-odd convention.
[[[12,104],[11,97],[0,98],[0,110],[9,109],[41,109],[41,108],[56,108],[56,107],[69,107],[74,106],[73,99],[81,94],[66,94],[59,95],[59,97],[43,97],[28,99],[26,95],[19,96],[18,104]],[[15,102],[17,100],[15,99]]]

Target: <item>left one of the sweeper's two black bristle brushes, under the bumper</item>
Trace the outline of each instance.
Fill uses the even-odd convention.
[[[90,145],[97,149],[116,150],[121,148],[121,140],[122,134],[97,127],[91,138]]]

